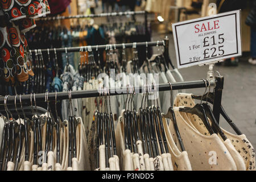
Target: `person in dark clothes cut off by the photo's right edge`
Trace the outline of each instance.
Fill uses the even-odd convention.
[[[256,65],[256,0],[253,0],[250,14],[247,16],[245,23],[251,27],[251,57],[249,63]]]

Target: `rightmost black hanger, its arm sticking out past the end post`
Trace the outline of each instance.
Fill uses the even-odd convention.
[[[207,97],[207,94],[204,94],[203,95],[203,98],[202,96],[194,96],[192,95],[192,98],[196,99],[196,100],[203,100],[203,101],[209,101],[210,104],[213,104],[213,101],[214,101],[214,93],[210,92],[208,93],[208,97]],[[238,134],[238,135],[242,135],[242,132],[240,131],[240,129],[238,129],[238,127],[236,126],[235,123],[233,123],[232,119],[229,118],[228,114],[226,114],[224,108],[222,107],[221,105],[221,115],[224,117],[224,119],[229,123],[229,125],[232,127],[232,129]]]

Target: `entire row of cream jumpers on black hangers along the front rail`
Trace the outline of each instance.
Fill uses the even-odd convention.
[[[126,81],[130,83],[129,80]],[[92,86],[88,88],[95,88],[93,80],[90,82]],[[94,82],[96,85],[97,83]],[[184,82],[183,88],[194,88],[191,82],[188,82],[188,87],[185,84]],[[162,88],[162,85],[156,86]],[[207,82],[205,85],[208,85]],[[164,115],[155,97],[148,100],[152,93],[151,86],[146,85],[144,91],[141,89],[142,104],[137,107],[134,103],[135,89],[132,85],[127,85],[129,92],[121,93],[125,97],[125,109],[118,113],[118,122],[114,118],[114,107],[118,107],[112,104],[113,98],[118,97],[110,96],[111,85],[110,91],[108,87],[102,88],[100,85],[100,95],[97,95],[100,97],[92,98],[96,106],[93,109],[87,108],[87,111],[93,113],[90,121],[83,121],[80,113],[73,110],[76,100],[81,98],[72,98],[72,92],[68,93],[68,118],[64,122],[57,115],[51,114],[47,94],[47,108],[50,110],[39,116],[35,107],[32,109],[33,117],[29,118],[31,122],[28,122],[27,114],[24,113],[20,118],[17,111],[11,112],[7,109],[11,106],[6,105],[6,113],[2,113],[6,117],[0,117],[0,121],[4,123],[3,129],[0,127],[3,131],[1,170],[255,170],[255,152],[249,140],[245,135],[234,135],[222,128],[219,129],[224,134],[218,131],[219,124],[215,116],[210,115],[210,110],[207,110],[209,105],[206,102],[195,104],[192,94],[179,93],[174,107],[170,98],[170,108]],[[203,88],[203,84],[201,87]],[[178,89],[175,83],[172,88]],[[76,92],[78,91],[73,91],[73,94]],[[154,89],[153,93],[155,92]],[[92,90],[88,93],[91,94]],[[34,103],[38,99],[39,96],[35,96]],[[23,98],[24,100],[26,99]],[[199,111],[191,113],[192,108],[198,106],[204,107],[210,127]],[[170,115],[172,110],[174,115]],[[15,117],[14,112],[18,114]],[[88,132],[85,127],[87,122],[90,123]],[[210,129],[213,128],[217,133],[212,133]],[[27,131],[27,134],[23,131]],[[6,139],[7,136],[10,137],[9,140]],[[33,142],[34,137],[36,140]],[[8,147],[14,145],[20,150],[14,152],[14,147]],[[14,154],[14,158],[9,158],[11,154]]]

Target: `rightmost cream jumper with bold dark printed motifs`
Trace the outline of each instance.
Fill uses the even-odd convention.
[[[177,94],[175,105],[193,107],[196,104],[192,98],[192,94],[179,93]],[[195,126],[195,128],[201,134],[209,135],[207,129],[204,127],[204,125],[202,125],[203,123],[200,122],[199,120],[200,118],[192,114],[187,114],[187,115],[188,115],[188,119],[190,119],[190,123],[192,126]],[[254,148],[249,142],[249,140],[246,138],[246,136],[234,135],[222,128],[221,130],[224,132],[224,134],[228,138],[227,140],[224,141],[224,144],[228,148],[230,154],[232,155],[234,161],[236,162],[237,170],[238,171],[243,171],[245,169],[247,171],[255,170]]]

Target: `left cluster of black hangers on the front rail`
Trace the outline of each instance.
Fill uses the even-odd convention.
[[[68,92],[69,94],[69,149],[68,149],[68,167],[72,166],[72,158],[76,158],[76,128],[78,125],[78,121],[76,116],[73,114],[72,108],[72,93],[71,91]],[[64,126],[67,126],[67,123],[62,122],[60,117],[57,114],[57,93],[55,92],[55,114],[52,114],[51,108],[49,106],[48,101],[48,92],[46,92],[46,103],[47,103],[47,112],[43,113],[44,109],[38,108],[36,106],[36,97],[34,93],[34,105],[33,106],[33,95],[30,94],[31,98],[31,108],[32,116],[28,117],[28,114],[25,114],[26,108],[23,108],[22,99],[19,95],[19,104],[20,109],[23,114],[23,119],[20,117],[19,109],[17,109],[17,97],[15,96],[15,111],[16,114],[13,115],[11,110],[9,110],[7,106],[7,99],[9,96],[5,96],[5,112],[7,117],[3,117],[3,114],[0,115],[3,117],[5,121],[5,125],[3,128],[3,138],[0,148],[0,171],[6,171],[7,169],[7,162],[14,162],[14,171],[18,170],[18,164],[20,162],[20,155],[22,151],[22,144],[24,141],[25,146],[25,155],[24,160],[29,161],[30,152],[33,152],[33,164],[42,167],[42,163],[39,162],[40,158],[40,151],[43,150],[42,146],[42,129],[44,125],[46,125],[46,143],[45,143],[45,150],[44,150],[44,160],[43,163],[47,163],[47,153],[49,151],[53,151],[53,133],[56,131],[56,163],[61,163],[61,154],[60,154],[60,130],[63,129]],[[45,116],[42,117],[39,113],[44,114]],[[18,119],[15,120],[14,116],[18,116]],[[18,122],[15,122],[18,121]],[[29,131],[32,130],[34,132],[34,151],[30,151],[29,148]],[[36,147],[35,147],[36,146]]]

